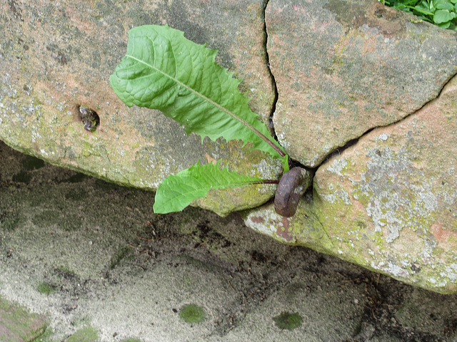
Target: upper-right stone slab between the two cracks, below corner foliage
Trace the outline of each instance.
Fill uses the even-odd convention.
[[[457,36],[373,0],[275,0],[266,8],[276,135],[318,166],[371,128],[436,98],[457,71]]]

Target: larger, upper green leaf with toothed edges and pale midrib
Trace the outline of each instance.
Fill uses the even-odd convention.
[[[216,52],[169,26],[139,26],[109,81],[126,105],[161,110],[188,134],[252,142],[282,159],[283,148],[239,92],[241,81],[214,62]]]

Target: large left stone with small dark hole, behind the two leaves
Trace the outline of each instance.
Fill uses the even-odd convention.
[[[161,180],[201,160],[222,160],[239,172],[276,179],[271,158],[186,136],[154,110],[127,108],[109,86],[126,52],[127,31],[169,24],[196,43],[219,49],[251,108],[267,120],[274,99],[266,66],[263,4],[259,1],[0,1],[0,139],[55,165],[122,185],[155,190]],[[100,124],[84,130],[79,105],[95,110]],[[274,187],[213,192],[199,202],[227,214],[255,207]]]

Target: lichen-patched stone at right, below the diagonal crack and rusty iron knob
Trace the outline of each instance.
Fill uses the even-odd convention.
[[[332,157],[296,215],[248,226],[441,293],[457,292],[457,77],[395,125]]]

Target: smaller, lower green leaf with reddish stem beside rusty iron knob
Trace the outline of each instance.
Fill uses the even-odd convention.
[[[196,165],[164,179],[156,192],[154,212],[166,214],[179,212],[194,199],[206,197],[209,190],[221,190],[229,187],[261,184],[255,177],[240,175],[217,164]]]

